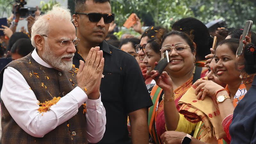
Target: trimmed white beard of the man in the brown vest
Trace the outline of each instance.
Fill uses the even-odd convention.
[[[53,68],[59,69],[61,71],[69,71],[72,68],[73,56],[75,54],[65,54],[62,56],[57,56],[51,50],[47,41],[45,41],[44,48],[45,48],[45,50],[42,54],[42,58],[46,63],[51,65]],[[71,61],[62,61],[62,58],[64,58],[64,57],[72,57],[72,58],[71,58]]]

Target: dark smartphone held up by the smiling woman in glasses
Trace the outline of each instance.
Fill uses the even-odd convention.
[[[158,76],[156,76],[155,81],[158,80],[159,76],[163,73],[164,68],[167,66],[169,62],[170,61],[169,61],[168,51],[165,51],[164,58],[158,61],[156,67],[154,68],[154,70],[158,72]]]

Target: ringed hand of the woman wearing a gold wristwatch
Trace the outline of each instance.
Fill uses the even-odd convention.
[[[218,90],[224,89],[219,84],[209,80],[197,80],[196,83],[194,83],[194,85],[197,86],[197,99],[201,98],[202,100],[204,100],[206,95],[212,97],[213,99],[216,99],[216,92]]]

